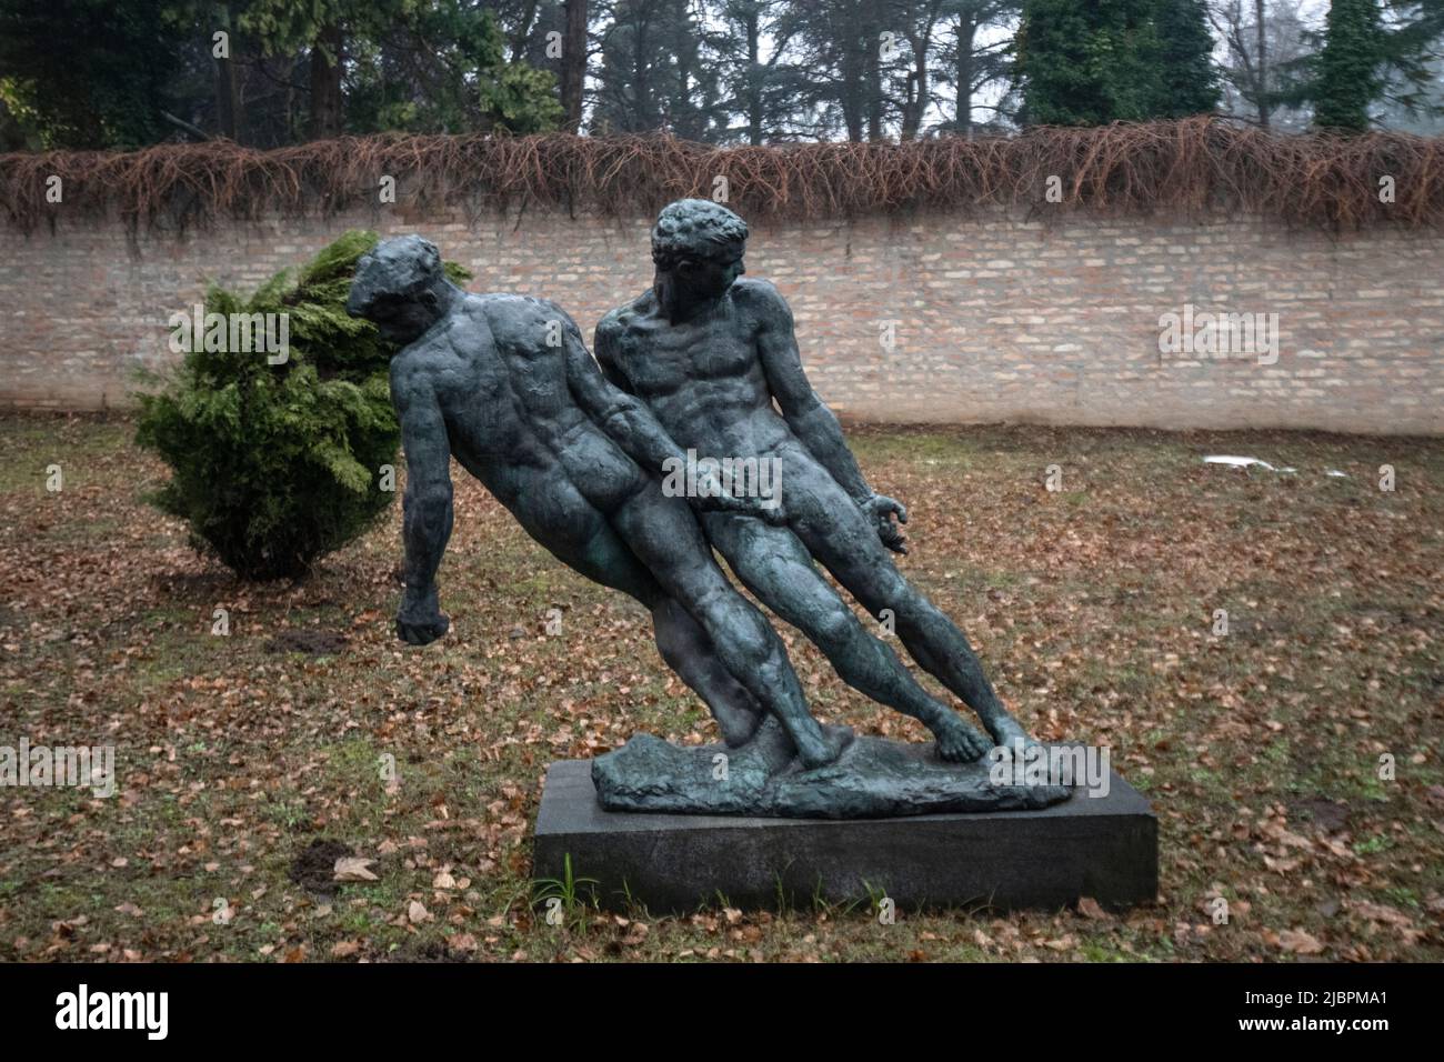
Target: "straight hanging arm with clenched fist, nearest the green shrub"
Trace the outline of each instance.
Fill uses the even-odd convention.
[[[406,449],[401,522],[406,591],[396,631],[401,640],[425,646],[451,626],[436,594],[436,569],[452,529],[451,442],[436,394],[414,366],[393,363],[391,403],[401,422]]]

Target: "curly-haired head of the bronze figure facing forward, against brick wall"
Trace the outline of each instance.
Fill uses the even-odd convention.
[[[745,270],[747,223],[710,199],[679,199],[651,230],[653,290],[663,312],[679,318],[721,298]]]

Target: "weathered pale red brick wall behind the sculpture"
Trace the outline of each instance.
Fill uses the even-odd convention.
[[[529,211],[468,224],[394,210],[139,240],[118,223],[62,221],[55,234],[0,236],[0,405],[129,405],[130,368],[170,357],[166,319],[205,277],[253,288],[351,227],[419,231],[477,275],[474,290],[546,295],[586,335],[650,282],[647,218]],[[875,217],[757,224],[747,266],[788,298],[813,383],[851,419],[1444,426],[1438,233]],[[1160,318],[1186,303],[1276,314],[1276,361],[1161,354]]]

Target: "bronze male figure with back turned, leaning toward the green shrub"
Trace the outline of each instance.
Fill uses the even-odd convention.
[[[406,642],[426,644],[449,626],[436,569],[455,455],[557,559],[651,610],[663,659],[708,702],[728,744],[752,735],[761,708],[804,766],[838,757],[851,731],[823,731],[807,712],[777,631],[718,568],[687,501],[644,471],[682,461],[677,445],[606,383],[560,306],[469,295],[446,279],[433,244],[407,236],[362,256],[347,311],[406,344],[391,360],[407,470]],[[712,494],[699,504],[755,503]]]

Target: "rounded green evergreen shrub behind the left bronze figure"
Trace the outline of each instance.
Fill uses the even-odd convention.
[[[150,500],[243,578],[305,575],[394,497],[381,470],[397,465],[400,446],[387,371],[396,347],[345,311],[357,260],[375,243],[352,230],[295,280],[283,270],[248,299],[212,286],[206,314],[287,314],[286,360],[215,350],[230,335],[206,350],[201,329],[179,367],[139,396],[136,441],[170,465]],[[452,263],[448,272],[466,279]]]

